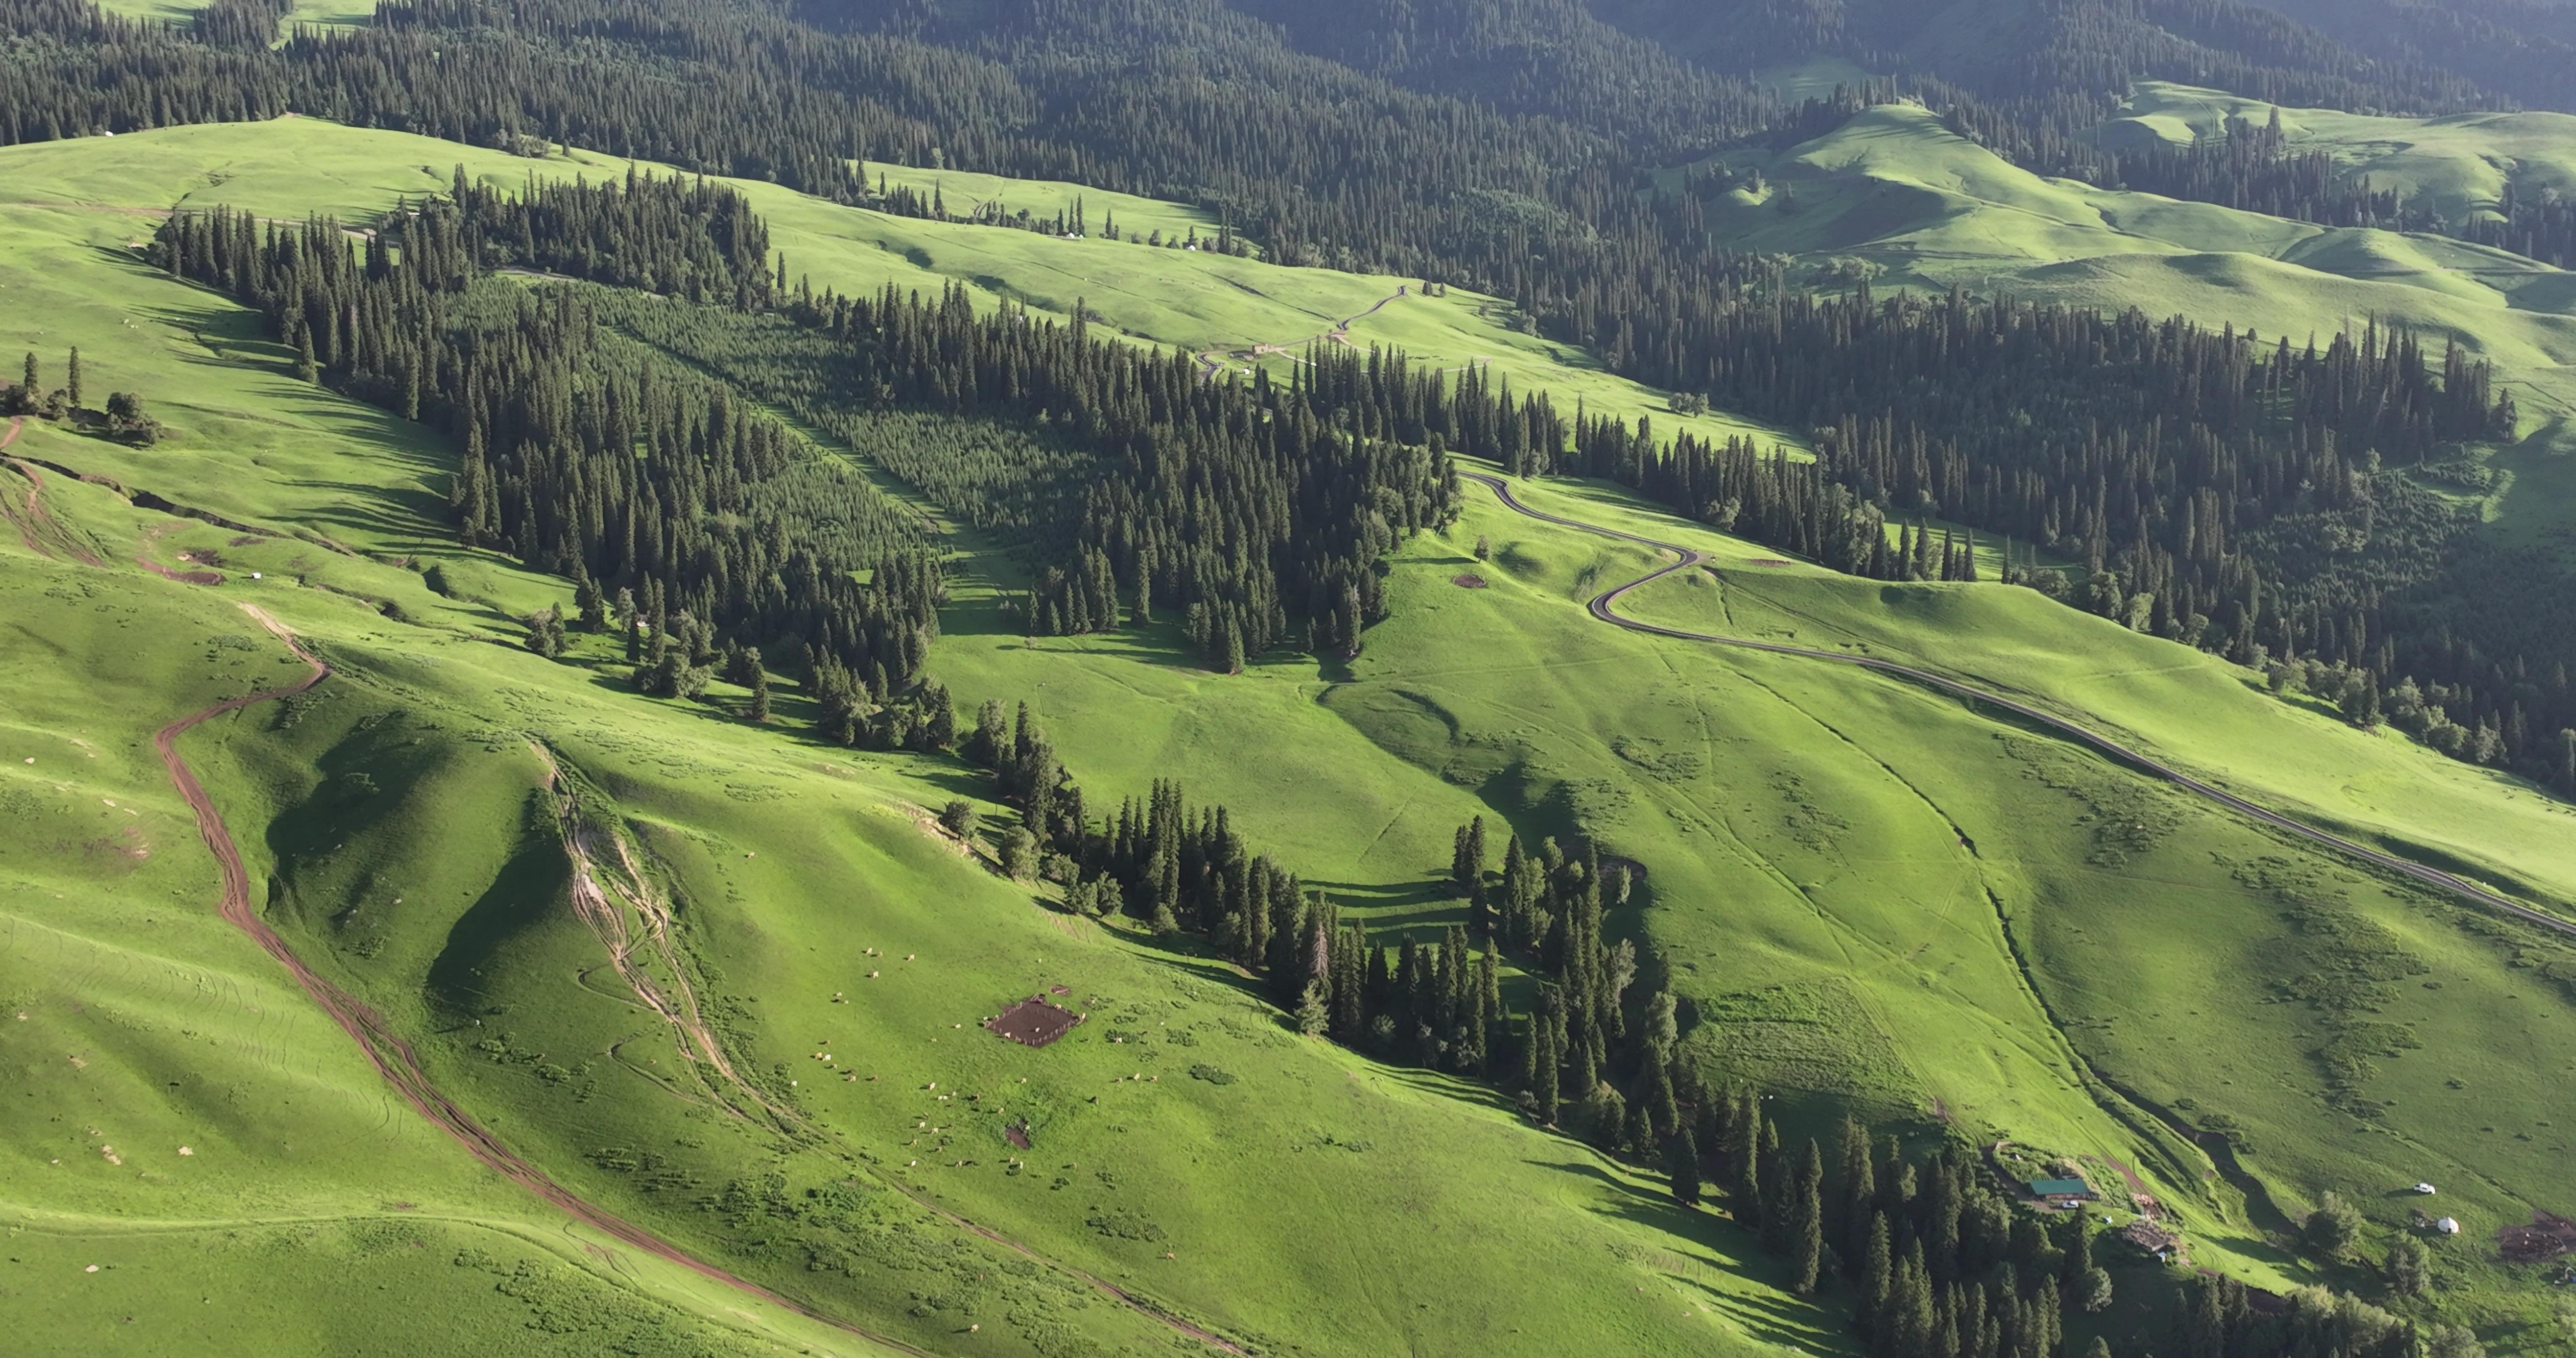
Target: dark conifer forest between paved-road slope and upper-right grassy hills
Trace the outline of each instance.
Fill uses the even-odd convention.
[[[1880,580],[1973,577],[1955,539],[1891,546],[1883,521],[1942,515],[2084,562],[2012,580],[2130,629],[2244,665],[2313,657],[2370,675],[2375,724],[2403,688],[2447,752],[2576,791],[2576,703],[2548,662],[2460,636],[2388,593],[2432,580],[2465,510],[2409,482],[2465,443],[2512,438],[2517,412],[2483,361],[2367,322],[2326,343],[2262,343],[2141,312],[2020,301],[1734,294],[1669,299],[1631,374],[1705,389],[1816,430],[1816,459],[1749,443],[1664,446],[1577,417],[1574,446],[1525,472],[1579,472]],[[1662,358],[1649,358],[1656,353]],[[2439,716],[2434,716],[2439,714]],[[2458,737],[2442,732],[2458,732]],[[2478,732],[2494,732],[2481,737]]]

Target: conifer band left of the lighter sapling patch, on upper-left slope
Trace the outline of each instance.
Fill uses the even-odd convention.
[[[644,180],[590,193],[670,206],[698,191]],[[665,232],[726,222],[644,206],[611,216]],[[909,683],[938,631],[938,564],[904,544],[853,559],[778,513],[760,490],[811,461],[786,425],[618,345],[569,291],[477,281],[471,222],[456,204],[417,204],[399,232],[353,247],[335,222],[276,227],[216,209],[170,216],[152,258],[260,309],[304,376],[446,430],[464,448],[451,490],[464,539],[629,590],[629,618],[649,621],[649,688],[703,688],[693,670],[716,636],[829,657],[878,696]],[[765,278],[760,260],[744,263],[742,278]],[[665,647],[675,629],[690,644]]]

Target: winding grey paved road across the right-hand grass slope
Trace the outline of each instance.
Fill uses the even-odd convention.
[[[1582,521],[1561,518],[1561,515],[1553,515],[1553,513],[1546,513],[1546,510],[1533,510],[1530,505],[1522,505],[1512,495],[1512,487],[1504,484],[1502,477],[1494,477],[1489,472],[1461,469],[1458,477],[1468,479],[1468,482],[1484,484],[1486,490],[1494,492],[1497,500],[1502,500],[1502,505],[1507,510],[1512,510],[1517,515],[1535,518],[1540,523],[1556,523],[1561,528],[1577,528],[1577,531],[1584,531],[1584,533],[1597,533],[1597,536],[1605,536],[1605,539],[1633,541],[1638,546],[1651,546],[1656,551],[1674,551],[1674,554],[1682,557],[1680,562],[1672,562],[1669,567],[1646,572],[1646,575],[1641,575],[1641,577],[1636,577],[1636,580],[1631,580],[1625,585],[1615,585],[1610,590],[1602,590],[1600,595],[1592,595],[1592,603],[1589,603],[1592,616],[1600,618],[1600,621],[1605,621],[1605,624],[1610,624],[1610,626],[1625,626],[1628,631],[1646,631],[1646,634],[1654,634],[1654,636],[1674,636],[1674,639],[1682,639],[1682,642],[1710,642],[1710,644],[1718,644],[1718,647],[1739,647],[1739,649],[1772,652],[1772,655],[1798,655],[1798,657],[1806,657],[1806,660],[1829,660],[1834,665],[1857,665],[1862,670],[1878,670],[1883,675],[1896,675],[1896,678],[1919,683],[1924,688],[1937,688],[1942,693],[1950,693],[1953,698],[1968,698],[1973,703],[2002,709],[2002,711],[2009,711],[2009,714],[2014,714],[2014,716],[2020,716],[2020,719],[2025,719],[2025,722],[2030,722],[2035,727],[2045,727],[2053,734],[2074,740],[2076,745],[2084,745],[2089,750],[2110,755],[2110,758],[2115,758],[2115,760],[2120,760],[2120,763],[2125,763],[2130,768],[2141,768],[2146,773],[2154,773],[2156,778],[2164,778],[2166,783],[2174,783],[2174,786],[2179,786],[2179,789],[2184,789],[2190,794],[2197,794],[2197,796],[2202,796],[2208,801],[2215,801],[2215,804],[2221,804],[2221,807],[2226,807],[2226,809],[2231,809],[2231,812],[2236,812],[2236,814],[2241,814],[2246,819],[2269,825],[2272,830],[2282,830],[2287,835],[2308,840],[2308,843],[2313,843],[2318,848],[2329,848],[2334,853],[2342,853],[2344,858],[2367,863],[2372,868],[2391,871],[2391,874],[2421,881],[2424,886],[2434,886],[2439,892],[2450,892],[2452,897],[2460,897],[2460,899],[2465,899],[2470,904],[2483,904],[2486,910],[2494,910],[2499,915],[2512,915],[2517,920],[2540,925],[2545,930],[2555,930],[2555,933],[2563,933],[2568,938],[2576,938],[2576,920],[2561,920],[2558,915],[2550,915],[2545,910],[2532,910],[2532,907],[2527,907],[2527,904],[2522,904],[2517,899],[2509,899],[2509,897],[2501,897],[2496,892],[2488,892],[2486,886],[2478,886],[2476,881],[2452,876],[2452,874],[2447,874],[2442,868],[2434,868],[2434,866],[2427,866],[2427,863],[2416,863],[2414,858],[2398,858],[2393,853],[2383,853],[2383,850],[2375,850],[2375,848],[2367,848],[2367,845],[2357,845],[2357,843],[2352,843],[2352,840],[2347,840],[2342,835],[2331,835],[2326,830],[2318,830],[2313,825],[2293,819],[2293,817],[2287,817],[2282,812],[2275,812],[2269,807],[2259,807],[2254,801],[2246,801],[2244,796],[2236,796],[2236,794],[2231,794],[2226,789],[2218,789],[2218,786],[2210,786],[2210,783],[2205,783],[2200,778],[2192,778],[2190,773],[2184,773],[2184,770],[2179,770],[2179,768],[2174,768],[2174,765],[2169,765],[2164,760],[2156,760],[2154,755],[2143,755],[2138,750],[2130,750],[2128,745],[2120,745],[2117,740],[2110,740],[2107,734],[2092,732],[2092,729],[2079,727],[2079,724],[2074,724],[2074,722],[2069,722],[2063,716],[2056,716],[2056,714],[2035,709],[2030,703],[2007,698],[2002,693],[1994,693],[1994,691],[1986,691],[1986,688],[1976,688],[1973,683],[1960,683],[1960,680],[1953,680],[1953,678],[1935,675],[1932,670],[1917,670],[1914,665],[1899,665],[1893,660],[1875,660],[1875,657],[1868,657],[1868,655],[1844,655],[1844,652],[1829,652],[1829,649],[1816,649],[1816,647],[1788,647],[1788,644],[1780,644],[1780,642],[1754,642],[1754,639],[1747,639],[1747,636],[1718,636],[1713,631],[1685,631],[1685,629],[1677,629],[1677,626],[1662,626],[1662,624],[1646,624],[1646,621],[1636,621],[1636,618],[1623,618],[1618,611],[1613,611],[1613,603],[1618,603],[1620,595],[1625,595],[1628,590],[1636,590],[1641,585],[1651,585],[1651,582],[1656,582],[1656,580],[1662,580],[1667,575],[1674,575],[1674,572],[1682,572],[1682,569],[1692,569],[1692,567],[1708,562],[1708,557],[1700,554],[1700,551],[1695,551],[1695,549],[1690,549],[1690,546],[1674,544],[1674,541],[1656,541],[1656,539],[1649,539],[1643,533],[1628,533],[1628,531],[1620,531],[1620,528],[1602,528],[1600,523],[1582,523]]]

